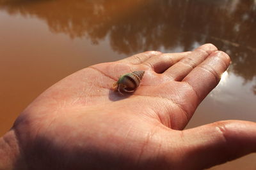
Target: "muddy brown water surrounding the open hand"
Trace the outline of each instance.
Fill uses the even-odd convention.
[[[253,0],[0,0],[0,135],[36,96],[83,67],[204,43],[232,64],[187,128],[256,122],[255,28]],[[255,160],[254,153],[211,169],[256,169]]]

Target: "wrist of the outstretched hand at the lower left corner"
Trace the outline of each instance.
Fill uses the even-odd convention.
[[[0,138],[0,169],[26,169],[15,131],[11,130]]]

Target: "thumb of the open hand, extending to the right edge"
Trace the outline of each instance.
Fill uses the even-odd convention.
[[[256,124],[228,120],[182,132],[188,167],[203,169],[256,152]],[[194,169],[194,168],[192,168]]]

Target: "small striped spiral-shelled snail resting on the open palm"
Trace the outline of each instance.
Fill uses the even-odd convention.
[[[133,71],[126,73],[113,84],[113,88],[118,90],[120,94],[123,92],[134,92],[140,86],[140,81],[143,78],[145,71]]]

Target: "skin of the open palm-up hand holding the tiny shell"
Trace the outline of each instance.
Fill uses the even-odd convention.
[[[206,44],[77,71],[31,103],[0,139],[0,169],[204,169],[256,151],[256,124],[183,130],[230,63]],[[124,96],[113,82],[144,70]]]

